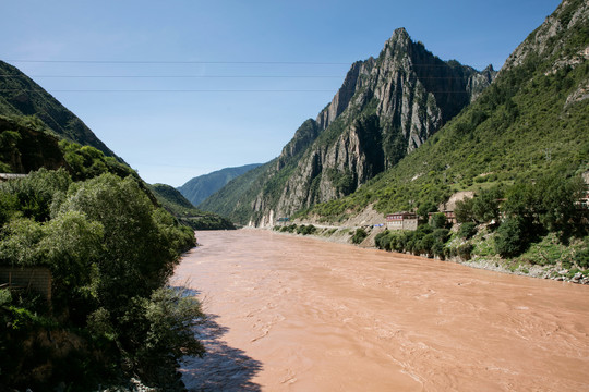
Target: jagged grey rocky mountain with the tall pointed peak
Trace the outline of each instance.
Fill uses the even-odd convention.
[[[267,225],[349,195],[423,144],[494,75],[491,68],[478,72],[442,61],[399,28],[377,59],[352,64],[332,102],[301,125],[255,180],[252,174],[230,184],[241,189],[240,197],[219,192],[202,207]]]

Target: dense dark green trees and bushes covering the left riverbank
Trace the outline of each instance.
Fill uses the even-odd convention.
[[[26,118],[2,121],[13,131],[0,133],[0,164],[36,170],[0,183],[0,265],[48,268],[52,296],[0,290],[0,387],[87,391],[134,377],[181,390],[178,360],[204,353],[192,330],[203,314],[167,281],[193,230],[124,163]],[[60,169],[31,159],[49,150]]]

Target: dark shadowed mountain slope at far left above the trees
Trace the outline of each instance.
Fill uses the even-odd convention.
[[[36,115],[58,136],[115,154],[80,120],[28,76],[0,61],[0,114]]]

